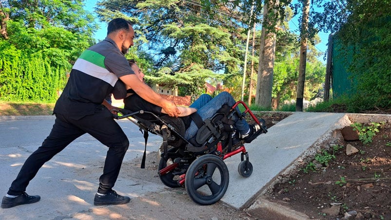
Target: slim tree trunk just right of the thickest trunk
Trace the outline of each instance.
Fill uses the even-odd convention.
[[[307,62],[307,31],[310,12],[310,0],[303,0],[303,15],[301,17],[300,63],[298,69],[298,87],[296,90],[296,111],[303,111],[305,68]]]

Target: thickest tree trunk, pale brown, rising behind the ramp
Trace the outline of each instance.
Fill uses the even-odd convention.
[[[279,1],[267,0],[263,6],[263,25],[261,33],[261,49],[258,67],[257,94],[255,103],[263,108],[270,109],[273,89],[273,67],[276,52],[276,34],[271,29],[269,10]],[[265,28],[267,26],[267,28]]]

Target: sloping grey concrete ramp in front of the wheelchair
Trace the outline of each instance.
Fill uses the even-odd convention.
[[[240,154],[224,160],[229,170],[229,185],[222,201],[238,209],[245,208],[298,158],[310,155],[312,146],[331,137],[333,130],[350,124],[345,113],[293,113],[245,145],[253,165],[250,177],[242,177],[238,172]],[[313,151],[315,154],[316,149]]]

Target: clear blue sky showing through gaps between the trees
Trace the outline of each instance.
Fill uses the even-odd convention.
[[[85,0],[85,9],[92,12],[94,11],[95,4],[98,0]],[[294,0],[294,2],[297,0]],[[107,34],[107,24],[99,22],[98,19],[96,18],[96,21],[98,22],[100,28],[95,32],[94,38],[97,40],[103,40],[106,37]],[[295,18],[292,18],[289,21],[289,27],[292,31],[298,30],[298,16]],[[323,55],[327,50],[327,41],[330,33],[325,33],[325,32],[319,32],[318,36],[320,37],[321,42],[315,45],[315,47],[322,52],[323,54],[318,57],[318,60],[321,61],[322,63],[326,63],[326,60],[323,60]]]

